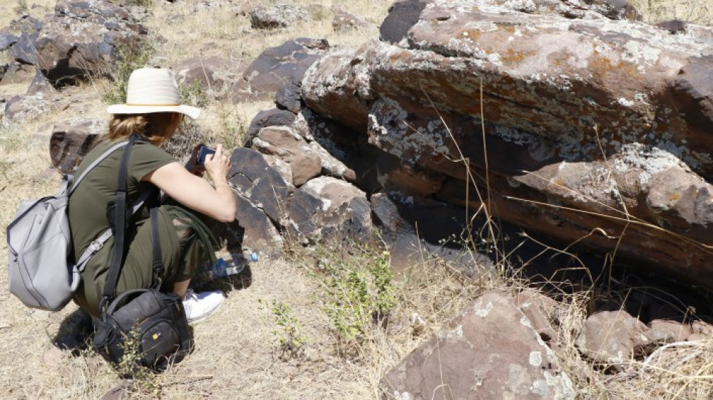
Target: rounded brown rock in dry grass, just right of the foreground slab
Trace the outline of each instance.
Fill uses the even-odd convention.
[[[575,344],[593,362],[622,371],[634,357],[635,349],[650,342],[645,335],[647,330],[643,322],[625,310],[600,311],[587,318]]]

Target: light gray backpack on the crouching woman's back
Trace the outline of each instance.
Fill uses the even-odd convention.
[[[101,154],[76,181],[66,174],[56,196],[24,201],[7,226],[10,292],[26,306],[61,310],[78,288],[88,260],[111,238],[111,229],[106,229],[87,246],[76,264],[68,260],[73,246],[68,200],[88,172],[126,144],[120,142]],[[146,197],[142,196],[131,211],[138,211]]]

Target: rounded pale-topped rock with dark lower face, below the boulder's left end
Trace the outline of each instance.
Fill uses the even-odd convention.
[[[308,181],[289,203],[288,233],[302,243],[314,238],[371,238],[371,210],[356,186],[332,177]]]

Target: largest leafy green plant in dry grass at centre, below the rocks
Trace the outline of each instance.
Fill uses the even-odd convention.
[[[340,340],[361,344],[386,321],[396,305],[396,288],[388,251],[361,246],[328,250],[319,258],[322,273],[314,275],[324,288],[324,312]]]

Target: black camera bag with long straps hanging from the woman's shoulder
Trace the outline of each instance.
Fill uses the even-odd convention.
[[[104,285],[100,319],[94,319],[96,330],[93,348],[108,362],[119,364],[126,350],[135,351],[139,364],[163,371],[170,364],[180,362],[193,350],[188,320],[181,298],[175,293],[160,292],[160,273],[163,270],[158,238],[157,201],[150,204],[151,241],[153,243],[153,287],[127,290],[114,297],[116,284],[125,253],[126,221],[126,169],[133,142],[132,135],[124,150],[119,168],[117,198],[109,206],[113,214],[114,248],[109,272]],[[128,341],[135,347],[128,348]]]

